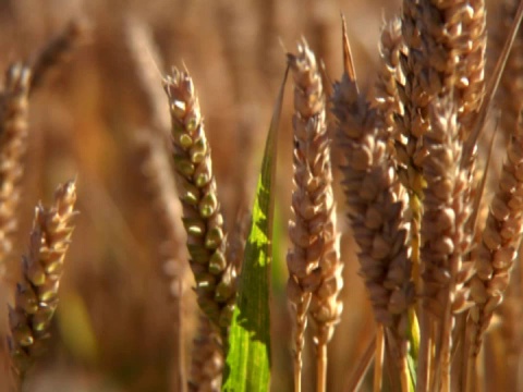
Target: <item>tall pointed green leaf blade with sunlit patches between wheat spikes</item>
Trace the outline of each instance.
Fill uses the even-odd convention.
[[[222,391],[265,392],[270,384],[269,289],[272,259],[272,183],[276,177],[278,123],[283,77],[265,145],[251,230],[245,245],[239,297],[229,333]]]

